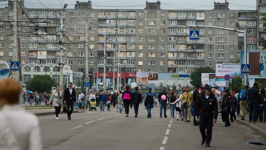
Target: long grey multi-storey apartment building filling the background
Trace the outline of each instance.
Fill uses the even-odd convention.
[[[21,4],[23,1],[21,1]],[[25,8],[21,5],[21,49],[24,80],[36,74],[51,74],[59,82],[58,42],[60,38],[59,9]],[[104,36],[106,36],[106,72],[117,71],[117,48],[121,43],[121,71],[132,72],[122,83],[134,81],[135,72],[191,73],[199,66],[215,67],[216,63],[237,60],[243,47],[243,34],[222,29],[200,29],[199,41],[189,40],[190,25],[209,25],[235,29],[247,29],[247,49],[261,46],[261,17],[265,0],[257,1],[257,11],[229,10],[228,2],[214,2],[213,10],[163,10],[160,2],[146,3],[143,10],[91,9],[93,2],[77,2],[74,9],[66,9],[64,17],[64,46],[66,51],[65,81],[83,80],[85,72],[85,26],[82,20],[90,20],[88,31],[89,72],[99,75],[104,66]],[[10,20],[12,3],[1,10],[0,20]],[[31,23],[31,21],[36,23]],[[38,26],[38,28],[36,27]],[[0,28],[0,59],[12,60],[12,35]],[[257,40],[259,39],[259,40]],[[112,41],[114,40],[114,41]],[[114,53],[115,51],[115,53]],[[115,60],[114,60],[115,55]],[[100,73],[97,73],[100,72]],[[75,77],[72,74],[75,74]],[[110,78],[113,76],[110,75]],[[117,77],[117,75],[116,75]],[[107,77],[109,78],[109,77]],[[110,80],[112,81],[112,80]],[[96,82],[96,81],[94,81]],[[102,81],[101,81],[102,82]],[[115,80],[116,83],[116,80]],[[123,84],[124,85],[124,84]]]

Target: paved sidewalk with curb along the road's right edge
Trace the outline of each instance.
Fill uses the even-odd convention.
[[[241,125],[247,126],[252,131],[255,132],[255,134],[260,135],[264,139],[266,139],[266,123],[257,121],[256,123],[249,123],[249,116],[246,114],[245,116],[246,120],[241,120],[241,117],[237,117],[236,122],[240,123]]]

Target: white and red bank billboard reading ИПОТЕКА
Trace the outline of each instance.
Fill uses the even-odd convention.
[[[217,87],[226,87],[225,75],[230,75],[229,81],[232,81],[235,73],[237,75],[241,74],[241,64],[216,64],[214,85]]]

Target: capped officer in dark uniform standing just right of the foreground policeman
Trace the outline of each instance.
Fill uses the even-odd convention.
[[[222,115],[225,120],[225,126],[231,126],[229,121],[229,114],[231,111],[231,98],[228,90],[223,91],[223,100],[221,105]]]

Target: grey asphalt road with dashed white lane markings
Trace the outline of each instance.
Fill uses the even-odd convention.
[[[167,111],[168,117],[170,112]],[[85,111],[73,113],[71,120],[66,114],[41,116],[40,126],[44,149],[106,149],[106,150],[168,150],[168,149],[266,149],[266,146],[247,144],[266,140],[252,133],[250,129],[231,123],[230,127],[221,124],[221,117],[212,129],[211,148],[200,145],[199,126],[193,122],[177,121],[175,118],[159,118],[159,107],[152,110],[152,118],[147,118],[144,105],[139,107],[135,118],[131,108],[129,117],[111,112]],[[192,117],[193,118],[193,117]]]

